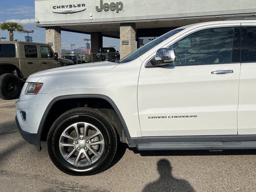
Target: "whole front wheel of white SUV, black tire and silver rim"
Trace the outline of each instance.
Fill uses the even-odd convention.
[[[104,171],[117,148],[114,125],[101,112],[75,108],[62,114],[50,128],[48,153],[61,171],[92,175]]]

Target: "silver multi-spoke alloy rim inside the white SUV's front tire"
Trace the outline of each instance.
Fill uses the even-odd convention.
[[[62,157],[76,167],[94,164],[102,156],[104,146],[104,138],[100,130],[86,122],[68,126],[59,140]]]

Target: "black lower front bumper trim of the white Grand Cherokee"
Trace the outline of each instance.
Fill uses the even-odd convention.
[[[24,140],[26,140],[30,144],[36,146],[38,151],[41,151],[41,149],[42,149],[41,148],[41,140],[40,140],[41,134],[38,134],[38,133],[28,133],[26,131],[23,131],[21,129],[21,127],[20,127],[20,123],[18,121],[17,116],[15,117],[15,121],[16,121],[16,124],[18,126],[18,129],[20,131],[20,134],[21,134],[22,138],[24,138]]]

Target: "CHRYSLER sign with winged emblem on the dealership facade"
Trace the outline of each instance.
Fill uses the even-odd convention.
[[[86,10],[85,4],[72,4],[72,5],[56,5],[52,7],[54,13],[76,13]],[[71,9],[70,9],[71,8]]]

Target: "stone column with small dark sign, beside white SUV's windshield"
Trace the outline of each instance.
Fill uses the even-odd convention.
[[[124,42],[123,42],[124,41]],[[135,23],[120,24],[120,58],[136,50],[136,25]]]

